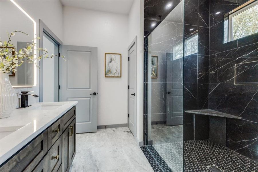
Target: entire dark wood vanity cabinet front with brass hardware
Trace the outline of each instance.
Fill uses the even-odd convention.
[[[76,150],[76,107],[0,166],[0,172],[66,172]]]

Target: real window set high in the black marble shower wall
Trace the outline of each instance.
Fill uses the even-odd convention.
[[[250,0],[224,17],[224,43],[258,32],[258,1]]]

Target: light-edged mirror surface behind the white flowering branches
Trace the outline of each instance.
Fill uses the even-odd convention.
[[[28,35],[16,32],[11,42],[17,48],[17,52],[31,44],[36,34],[36,22],[26,12],[10,0],[0,1],[0,37],[2,41],[8,40],[8,34],[15,30],[25,32]],[[35,53],[35,52],[33,52]],[[32,54],[31,54],[32,55]],[[9,79],[13,87],[33,87],[36,85],[36,65],[24,63],[16,67],[15,75],[10,74]]]

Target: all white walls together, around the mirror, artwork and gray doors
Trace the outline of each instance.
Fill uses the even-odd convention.
[[[133,2],[129,15],[62,7],[57,0],[15,1],[36,21],[37,34],[42,19],[63,44],[98,47],[97,125],[127,123],[127,48],[137,36],[137,138],[143,140],[143,0]],[[105,78],[105,52],[122,54],[121,78]],[[38,83],[37,77],[36,87],[16,90],[39,94]]]

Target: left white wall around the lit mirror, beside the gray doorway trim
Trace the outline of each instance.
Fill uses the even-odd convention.
[[[62,20],[62,4],[57,0],[14,0],[24,11],[26,11],[37,24],[37,34],[39,35],[39,19],[41,19],[49,28],[63,40],[63,20]],[[37,42],[38,44],[38,42]],[[37,85],[33,88],[16,89],[16,92],[34,91],[39,95],[39,70],[37,71]],[[29,104],[38,102],[38,97],[29,97]]]

